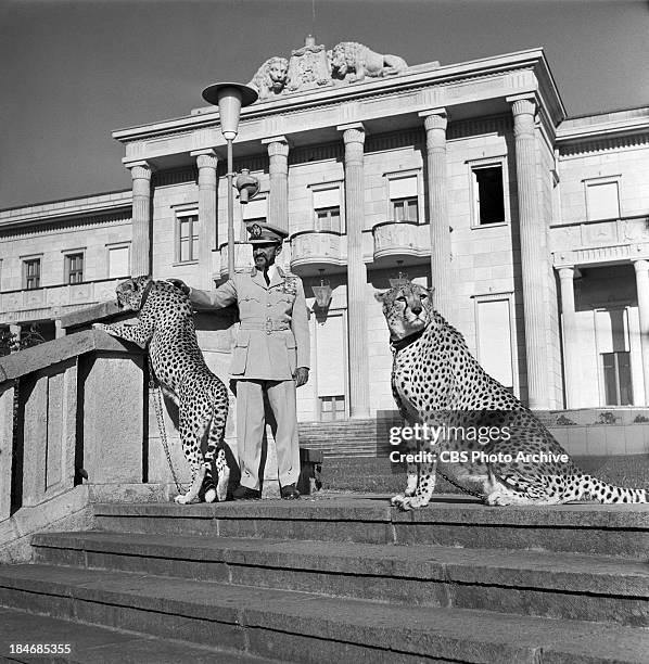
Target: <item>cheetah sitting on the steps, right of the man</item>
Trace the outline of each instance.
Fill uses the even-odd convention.
[[[407,422],[438,427],[440,434],[436,442],[429,434],[421,446],[430,455],[408,464],[405,495],[395,496],[392,505],[403,510],[427,506],[437,469],[491,506],[647,501],[644,489],[611,486],[581,472],[536,417],[487,375],[462,335],[433,310],[432,291],[406,282],[376,297],[390,329],[397,407]],[[489,429],[493,435],[475,435]],[[416,442],[410,451],[418,447]]]

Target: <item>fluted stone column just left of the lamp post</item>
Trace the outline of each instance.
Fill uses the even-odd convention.
[[[212,250],[216,246],[216,191],[218,156],[214,150],[191,153],[199,167],[199,259],[202,288],[209,290],[212,281]]]

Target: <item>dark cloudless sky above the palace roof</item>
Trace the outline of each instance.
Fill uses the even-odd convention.
[[[647,2],[315,0],[328,48],[408,64],[544,47],[571,115],[649,104]],[[0,0],[0,208],[126,189],[118,128],[204,105],[313,29],[313,0]]]

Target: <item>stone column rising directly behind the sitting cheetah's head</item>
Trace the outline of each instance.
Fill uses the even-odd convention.
[[[450,227],[446,191],[446,111],[435,108],[419,114],[424,117],[428,165],[429,222],[431,230],[431,282],[435,289],[434,306],[451,321],[454,296],[450,273]]]

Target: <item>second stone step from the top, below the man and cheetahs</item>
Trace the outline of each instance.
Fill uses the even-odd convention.
[[[649,626],[649,567],[537,551],[42,533],[35,560],[398,604]]]

